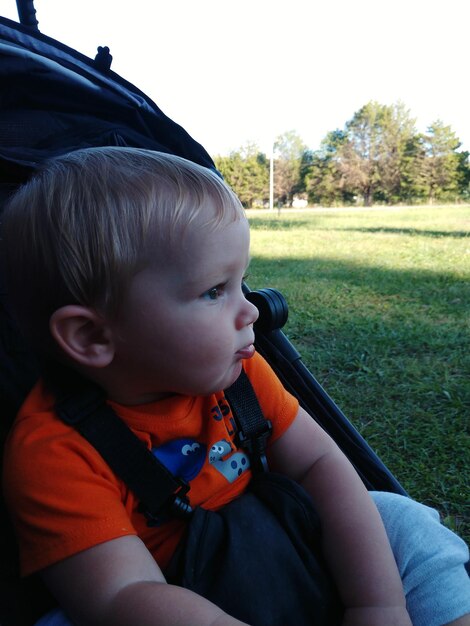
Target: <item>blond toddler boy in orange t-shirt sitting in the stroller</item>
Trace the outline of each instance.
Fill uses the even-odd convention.
[[[242,292],[249,228],[229,187],[176,156],[94,148],[48,163],[4,219],[8,287],[32,346],[103,388],[131,430],[188,480],[191,505],[208,509],[236,498],[251,477],[248,463],[230,471],[227,450],[209,454],[227,445],[243,455],[221,410],[243,368],[273,424],[270,467],[298,481],[319,513],[344,626],[409,626],[371,496],[255,353],[258,312]],[[132,492],[57,418],[54,402],[39,381],[5,453],[23,574],[40,571],[77,625],[241,624],[166,583],[184,524],[149,527]],[[420,610],[410,607],[413,623],[431,626],[418,621]],[[450,622],[465,612],[442,615]],[[442,615],[432,624],[445,623]]]

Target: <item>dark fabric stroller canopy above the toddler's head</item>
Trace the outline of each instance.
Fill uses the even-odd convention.
[[[0,182],[25,180],[46,158],[89,146],[171,152],[206,167],[212,159],[139,89],[95,60],[0,18]]]

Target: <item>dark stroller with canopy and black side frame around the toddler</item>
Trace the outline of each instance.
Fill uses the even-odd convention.
[[[9,195],[47,158],[89,146],[133,146],[174,153],[216,170],[204,150],[139,89],[115,74],[107,48],[95,59],[42,35],[32,0],[17,0],[20,23],[0,17],[0,212]],[[0,275],[0,286],[2,277]],[[331,400],[281,328],[287,305],[275,289],[245,292],[260,310],[257,350],[284,386],[335,439],[368,489],[405,494]],[[0,290],[0,449],[9,425],[38,377]],[[0,503],[0,624],[34,623],[49,599],[36,582],[21,582],[8,517]],[[31,586],[30,586],[31,585]],[[34,602],[32,601],[34,598]]]

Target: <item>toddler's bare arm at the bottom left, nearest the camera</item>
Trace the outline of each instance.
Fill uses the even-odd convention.
[[[77,626],[246,626],[192,591],[169,585],[142,541],[121,537],[43,571]]]

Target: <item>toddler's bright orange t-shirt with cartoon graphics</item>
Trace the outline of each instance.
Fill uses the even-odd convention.
[[[244,362],[267,419],[270,443],[290,426],[298,401],[261,356]],[[190,484],[192,506],[217,509],[245,489],[249,460],[234,442],[235,425],[223,392],[173,396],[148,405],[111,403],[117,414],[177,476]],[[9,435],[4,492],[20,545],[23,575],[87,548],[138,535],[164,569],[184,531],[172,520],[149,527],[138,501],[100,454],[54,412],[39,382]]]

